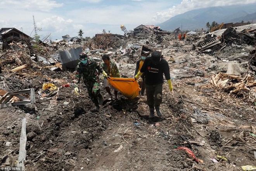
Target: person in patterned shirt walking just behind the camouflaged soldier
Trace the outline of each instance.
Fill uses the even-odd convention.
[[[110,77],[114,77],[114,78],[120,78],[120,73],[119,73],[118,67],[115,62],[110,60],[109,55],[104,54],[102,56],[102,60],[104,63],[101,64],[101,67],[107,73],[107,75]],[[107,91],[107,93],[109,93],[111,100],[113,100],[113,96],[110,92],[110,87],[114,89],[115,98],[116,99],[118,98],[118,96],[117,96],[118,91],[114,87],[111,86],[111,84],[107,80],[106,76],[104,76],[104,86],[105,86],[105,90]]]

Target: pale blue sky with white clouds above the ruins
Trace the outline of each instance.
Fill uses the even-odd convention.
[[[123,35],[121,24],[132,30],[140,24],[159,24],[189,10],[256,3],[256,0],[1,0],[0,28],[14,27],[41,40],[64,35],[93,37],[102,33]]]

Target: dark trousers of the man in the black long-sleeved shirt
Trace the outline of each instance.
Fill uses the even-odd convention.
[[[147,105],[149,108],[159,106],[162,103],[163,84],[145,85],[147,93]]]

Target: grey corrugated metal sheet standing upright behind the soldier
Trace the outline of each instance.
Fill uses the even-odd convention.
[[[68,50],[60,50],[59,57],[61,59],[62,66],[70,69],[76,68],[79,60],[79,54],[82,52],[82,48],[70,48],[70,52]]]

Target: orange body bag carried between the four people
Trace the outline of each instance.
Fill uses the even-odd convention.
[[[125,97],[133,99],[138,96],[140,87],[135,78],[114,78],[107,77],[109,83]]]

